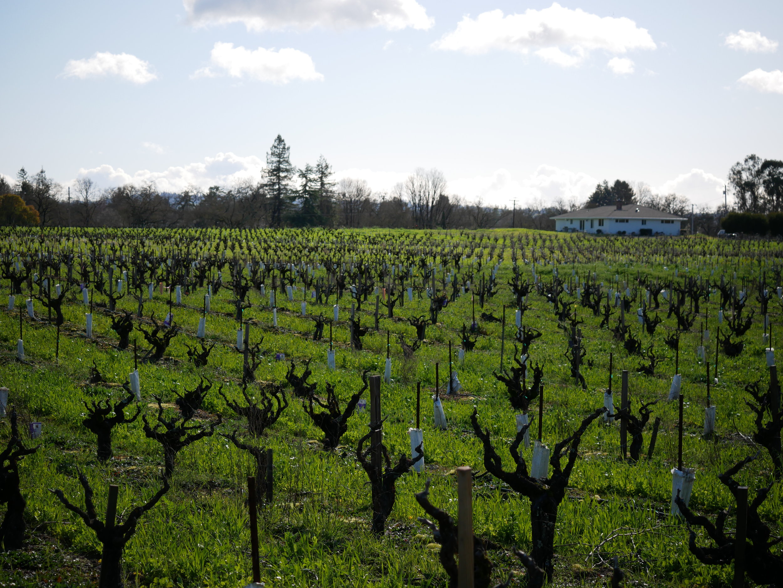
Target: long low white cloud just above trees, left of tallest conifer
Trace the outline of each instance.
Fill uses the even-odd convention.
[[[161,192],[180,192],[189,186],[207,189],[209,186],[230,186],[246,179],[261,179],[264,161],[250,155],[242,157],[235,153],[218,153],[215,157],[204,157],[204,161],[182,166],[173,166],[164,171],[139,170],[133,173],[109,164],[96,168],[81,168],[77,178],[90,178],[101,186],[122,186],[124,184],[146,184],[154,182]]]

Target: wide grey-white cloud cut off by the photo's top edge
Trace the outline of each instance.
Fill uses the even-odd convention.
[[[183,0],[197,26],[243,23],[248,31],[286,28],[406,27],[428,29],[433,20],[416,0]]]

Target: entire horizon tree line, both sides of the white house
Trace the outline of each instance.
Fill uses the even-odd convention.
[[[783,210],[783,162],[745,157],[729,173],[734,210],[767,213]],[[40,224],[117,227],[381,227],[419,229],[493,229],[518,227],[554,229],[550,217],[583,207],[641,204],[674,215],[688,215],[691,204],[678,194],[656,194],[644,183],[617,179],[597,184],[586,201],[572,198],[520,209],[467,202],[447,193],[446,177],[438,169],[417,168],[388,192],[370,189],[363,179],[336,181],[325,157],[297,168],[290,147],[277,135],[257,181],[207,190],[189,187],[161,193],[154,183],[99,189],[92,179],[78,179],[64,189],[41,169],[24,168],[13,186],[0,176],[0,224]],[[695,231],[716,234],[729,209],[698,207]],[[34,214],[33,214],[34,213]],[[35,214],[38,216],[36,217]]]

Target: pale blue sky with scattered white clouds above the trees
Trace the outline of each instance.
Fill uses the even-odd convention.
[[[0,0],[0,173],[159,189],[294,164],[466,200],[602,179],[719,204],[781,158],[781,2]]]

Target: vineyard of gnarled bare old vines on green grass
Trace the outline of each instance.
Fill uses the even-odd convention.
[[[783,577],[779,241],[0,233],[0,586]]]

